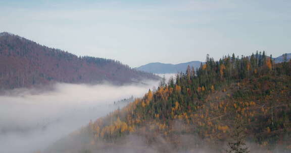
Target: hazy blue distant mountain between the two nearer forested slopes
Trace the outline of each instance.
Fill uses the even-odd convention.
[[[145,71],[145,72],[152,72],[152,73],[177,73],[177,72],[185,72],[187,66],[193,66],[195,69],[199,68],[201,65],[201,61],[190,61],[186,63],[179,63],[179,64],[165,64],[160,62],[149,63],[146,65],[142,65],[136,67],[136,69]]]

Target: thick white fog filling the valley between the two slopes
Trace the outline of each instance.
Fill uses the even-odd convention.
[[[56,84],[50,90],[15,89],[0,96],[0,152],[42,150],[70,132],[141,97],[147,85]]]

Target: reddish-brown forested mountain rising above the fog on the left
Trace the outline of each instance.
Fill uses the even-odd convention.
[[[130,68],[119,61],[78,57],[60,49],[39,45],[23,37],[0,33],[0,89],[62,83],[126,84],[157,80],[152,73]]]

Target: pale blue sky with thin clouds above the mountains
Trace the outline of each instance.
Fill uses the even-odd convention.
[[[76,55],[150,62],[291,52],[289,0],[1,0],[0,32]]]

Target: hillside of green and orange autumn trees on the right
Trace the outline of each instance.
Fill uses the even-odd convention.
[[[291,61],[207,56],[199,69],[161,85],[47,152],[223,152],[236,120],[252,152],[291,151]]]

